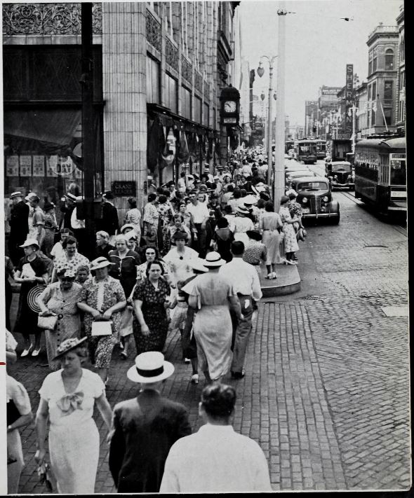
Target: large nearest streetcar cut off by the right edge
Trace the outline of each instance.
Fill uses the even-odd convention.
[[[355,145],[355,197],[382,214],[407,211],[406,138],[373,137]]]

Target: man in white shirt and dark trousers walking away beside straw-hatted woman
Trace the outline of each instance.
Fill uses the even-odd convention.
[[[253,299],[258,301],[262,297],[258,272],[243,261],[244,244],[240,241],[232,243],[233,259],[222,265],[219,274],[232,284],[240,301],[241,313],[244,319],[238,320],[232,312],[233,322],[233,360],[230,371],[232,378],[244,377],[243,365],[246,358],[248,338],[252,329]]]

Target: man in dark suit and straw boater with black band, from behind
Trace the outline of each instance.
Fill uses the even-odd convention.
[[[128,378],[140,382],[141,390],[114,408],[109,469],[119,493],[159,492],[171,446],[191,434],[185,406],[159,393],[173,371],[160,352],[139,354],[128,370]]]

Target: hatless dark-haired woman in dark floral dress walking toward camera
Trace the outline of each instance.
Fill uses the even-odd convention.
[[[166,343],[168,331],[166,307],[170,286],[161,275],[163,275],[163,266],[159,261],[149,263],[147,279],[139,282],[133,293],[135,310],[133,333],[137,354],[147,351],[162,352]]]

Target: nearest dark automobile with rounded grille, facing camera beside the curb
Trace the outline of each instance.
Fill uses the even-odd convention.
[[[339,203],[332,199],[330,182],[325,177],[298,177],[291,183],[297,193],[296,201],[302,206],[302,219],[329,219],[340,222]]]

